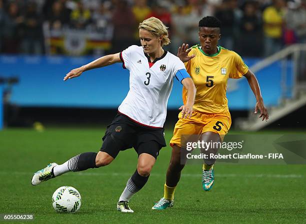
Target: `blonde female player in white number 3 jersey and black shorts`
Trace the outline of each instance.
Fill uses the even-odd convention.
[[[131,45],[119,53],[100,57],[64,77],[67,80],[83,71],[120,61],[129,70],[129,91],[107,126],[100,150],[78,154],[60,165],[50,163],[34,173],[32,185],[65,172],[108,165],[120,150],[133,147],[138,154],[137,168],[117,203],[117,210],[133,212],[128,201],[144,186],[160,148],[166,146],[163,123],[174,76],[187,89],[187,101],[180,107],[183,117],[191,116],[196,91],[183,62],[162,49],[170,42],[167,27],[159,19],[150,17],[138,28],[141,46]]]

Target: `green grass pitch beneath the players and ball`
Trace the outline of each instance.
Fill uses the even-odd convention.
[[[166,131],[167,142],[171,131]],[[24,223],[306,223],[306,165],[216,164],[209,192],[201,189],[201,166],[187,165],[174,206],[155,211],[151,207],[163,194],[170,157],[170,148],[165,147],[147,184],[130,200],[135,213],[128,214],[115,206],[136,167],[133,149],[120,152],[109,166],[30,184],[32,173],[49,162],[62,163],[80,152],[97,151],[103,133],[93,128],[0,131],[0,213],[34,214],[33,221]],[[54,211],[51,195],[62,185],[79,190],[78,212]]]

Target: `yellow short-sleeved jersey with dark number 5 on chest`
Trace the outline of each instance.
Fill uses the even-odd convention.
[[[208,55],[200,44],[192,46],[189,56],[195,57],[185,62],[196,87],[193,109],[206,113],[228,112],[226,84],[228,78],[240,78],[247,73],[248,67],[234,51],[217,46],[215,54]],[[182,90],[183,102],[187,99],[187,90]]]

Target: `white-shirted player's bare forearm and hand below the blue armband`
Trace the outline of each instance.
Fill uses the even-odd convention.
[[[192,115],[192,106],[194,103],[196,88],[191,78],[184,78],[181,80],[181,83],[187,89],[187,101],[178,109],[181,110],[182,118],[190,118]]]

